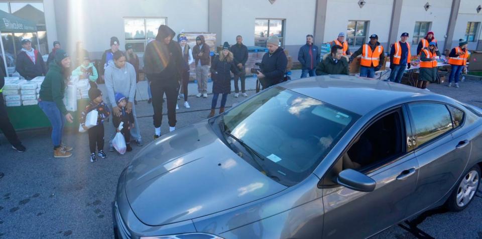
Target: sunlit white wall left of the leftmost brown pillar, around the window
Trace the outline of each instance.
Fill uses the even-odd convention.
[[[61,3],[67,2],[67,3]],[[77,41],[84,42],[89,52],[103,52],[109,48],[109,39],[116,36],[124,49],[124,18],[167,18],[167,25],[176,34],[207,32],[208,0],[55,0],[59,38],[74,49]],[[68,6],[69,9],[62,9]],[[63,26],[68,23],[69,26]],[[62,29],[62,30],[61,30]]]

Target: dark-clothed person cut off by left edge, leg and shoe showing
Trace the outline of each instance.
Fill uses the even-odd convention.
[[[3,71],[0,71],[0,130],[5,134],[7,140],[12,144],[12,148],[19,151],[25,152],[25,147],[20,142],[17,133],[15,132],[14,126],[10,123],[9,115],[7,114],[7,107],[4,102],[4,95],[2,94],[2,88],[5,85],[5,77]]]

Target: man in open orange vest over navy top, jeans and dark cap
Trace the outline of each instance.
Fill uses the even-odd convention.
[[[400,41],[393,44],[392,50],[390,51],[390,69],[392,69],[390,73],[391,82],[402,82],[405,69],[410,69],[411,67],[410,58],[412,55],[410,54],[410,44],[407,42],[408,37],[408,33],[402,33]]]

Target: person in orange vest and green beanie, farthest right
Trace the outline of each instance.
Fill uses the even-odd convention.
[[[448,59],[448,64],[452,66],[450,77],[448,78],[448,87],[451,87],[452,81],[455,80],[455,87],[458,88],[458,78],[463,68],[467,64],[467,59],[469,56],[467,51],[467,41],[460,39],[458,41],[458,47],[453,48],[448,56],[450,57]]]

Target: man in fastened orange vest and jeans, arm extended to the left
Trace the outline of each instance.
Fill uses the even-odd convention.
[[[364,44],[350,57],[350,63],[355,57],[362,55],[360,61],[360,76],[375,78],[375,72],[382,68],[383,60],[385,60],[385,52],[383,46],[378,42],[378,36],[373,34],[370,36],[370,44]]]

